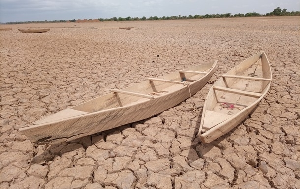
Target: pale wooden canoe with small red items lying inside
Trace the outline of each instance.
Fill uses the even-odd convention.
[[[203,106],[201,141],[210,143],[242,122],[266,95],[271,81],[271,67],[263,51],[221,75]]]

